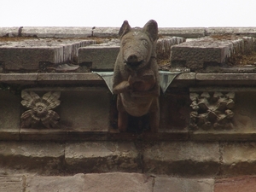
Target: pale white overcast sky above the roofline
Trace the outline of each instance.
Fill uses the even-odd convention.
[[[0,0],[0,26],[254,26],[256,0]]]

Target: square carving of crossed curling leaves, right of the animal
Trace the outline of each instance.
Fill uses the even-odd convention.
[[[190,113],[190,127],[204,130],[212,127],[214,129],[233,128],[231,119],[234,112],[231,109],[235,106],[234,99],[234,92],[190,93],[192,101],[190,107],[193,109]]]

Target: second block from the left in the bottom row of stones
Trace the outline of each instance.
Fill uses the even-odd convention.
[[[96,183],[95,183],[96,184]],[[49,192],[49,191],[60,191],[60,192],[84,192],[84,174],[76,174],[69,177],[60,176],[29,176],[26,177],[26,191],[37,191],[37,192]]]

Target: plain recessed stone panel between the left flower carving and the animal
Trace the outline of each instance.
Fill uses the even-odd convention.
[[[110,96],[108,88],[64,89],[60,98],[61,127],[108,131]]]

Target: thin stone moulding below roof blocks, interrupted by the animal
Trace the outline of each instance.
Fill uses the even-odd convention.
[[[105,84],[96,73],[0,73],[8,84]],[[256,84],[255,73],[180,73],[172,84]],[[171,84],[171,86],[172,86]]]

